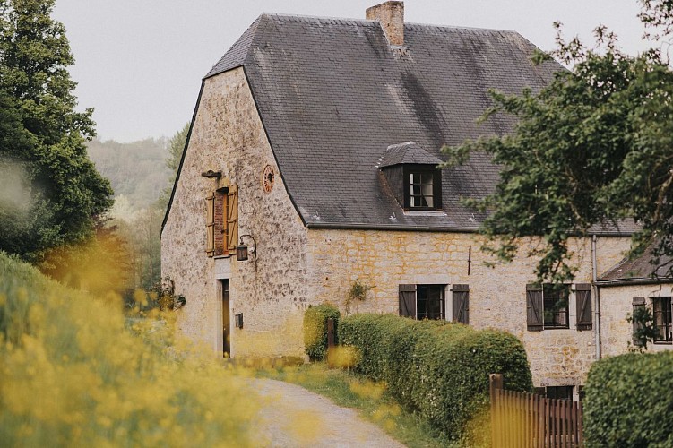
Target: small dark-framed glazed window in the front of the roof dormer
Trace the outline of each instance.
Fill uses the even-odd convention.
[[[406,188],[404,208],[409,210],[436,210],[442,207],[441,172],[427,165],[404,167]]]

